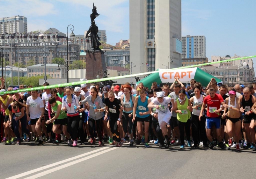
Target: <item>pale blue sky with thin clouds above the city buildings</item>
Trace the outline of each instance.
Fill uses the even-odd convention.
[[[107,43],[129,39],[129,0],[0,0],[0,17],[27,17],[28,31],[56,28],[67,33],[72,24],[73,32],[83,35],[91,24],[93,3],[100,14],[95,22],[106,30]],[[208,59],[256,55],[255,0],[182,0],[181,6],[182,36],[204,35]]]

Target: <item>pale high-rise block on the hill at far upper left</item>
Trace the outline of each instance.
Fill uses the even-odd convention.
[[[0,18],[0,34],[27,33],[27,18],[13,16]]]

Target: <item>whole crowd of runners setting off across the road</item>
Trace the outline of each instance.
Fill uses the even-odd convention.
[[[86,79],[81,79],[81,81]],[[5,92],[4,79],[0,92]],[[81,84],[1,94],[1,143],[255,150],[256,83]],[[49,86],[44,83],[43,86]],[[33,86],[27,86],[31,88]],[[8,87],[7,91],[25,88]]]

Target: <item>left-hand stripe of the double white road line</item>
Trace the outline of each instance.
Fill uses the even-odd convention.
[[[80,157],[83,157],[83,156],[86,156],[86,155],[90,155],[90,154],[95,153],[95,152],[99,152],[99,151],[104,150],[104,149],[106,149],[106,148],[110,148],[110,146],[103,147],[103,148],[99,148],[99,149],[97,149],[97,150],[93,150],[93,151],[91,151],[91,152],[87,152],[87,153],[84,153],[84,154],[81,154],[81,155],[77,155],[77,156],[75,156],[75,157],[71,157],[71,158],[62,160],[62,161],[60,161],[60,162],[55,162],[55,163],[52,163],[52,164],[49,164],[49,165],[46,165],[46,166],[42,166],[42,167],[40,167],[40,168],[33,169],[33,170],[30,170],[30,171],[27,171],[27,172],[24,172],[24,173],[15,175],[15,176],[11,176],[11,177],[6,178],[6,179],[16,179],[16,178],[20,178],[20,177],[22,177],[22,176],[30,175],[30,174],[32,174],[32,173],[39,172],[39,171],[41,171],[41,170],[54,167],[54,166],[56,166],[56,165],[60,165],[60,164],[65,163],[65,162],[69,162],[69,161],[71,161],[71,160],[74,160],[74,159],[77,159],[77,158],[80,158]]]

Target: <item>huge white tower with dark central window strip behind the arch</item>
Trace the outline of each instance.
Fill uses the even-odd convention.
[[[133,73],[181,66],[181,0],[130,0],[129,17]]]

